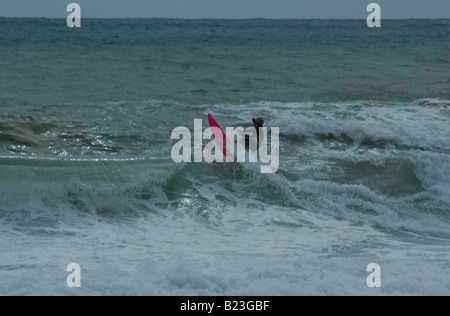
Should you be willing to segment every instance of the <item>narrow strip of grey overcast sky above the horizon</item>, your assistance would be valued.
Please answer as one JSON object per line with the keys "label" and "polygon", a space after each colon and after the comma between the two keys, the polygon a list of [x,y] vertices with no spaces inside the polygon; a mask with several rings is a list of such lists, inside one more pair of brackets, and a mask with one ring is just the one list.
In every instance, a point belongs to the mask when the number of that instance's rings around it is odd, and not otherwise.
{"label": "narrow strip of grey overcast sky above the horizon", "polygon": [[0,0],[0,16],[66,18],[71,2],[82,18],[365,19],[371,2],[382,18],[450,18],[450,0]]}

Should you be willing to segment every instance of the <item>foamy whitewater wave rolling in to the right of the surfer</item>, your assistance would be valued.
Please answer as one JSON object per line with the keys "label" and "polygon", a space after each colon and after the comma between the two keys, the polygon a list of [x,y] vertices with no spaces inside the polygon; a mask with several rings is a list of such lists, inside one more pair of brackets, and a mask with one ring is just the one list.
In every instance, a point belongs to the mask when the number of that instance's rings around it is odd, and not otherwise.
{"label": "foamy whitewater wave rolling in to the right of the surfer", "polygon": [[424,102],[297,107],[292,115],[295,119],[289,120],[283,132],[286,136],[339,139],[367,147],[393,145],[402,149],[450,152],[447,105],[434,102],[439,104],[437,108],[421,106],[431,104]]}

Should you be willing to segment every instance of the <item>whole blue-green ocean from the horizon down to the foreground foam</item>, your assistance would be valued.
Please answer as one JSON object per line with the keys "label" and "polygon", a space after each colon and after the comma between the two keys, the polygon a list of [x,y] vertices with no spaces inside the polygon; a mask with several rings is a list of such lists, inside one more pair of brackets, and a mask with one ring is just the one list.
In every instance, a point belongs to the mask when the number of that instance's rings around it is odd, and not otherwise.
{"label": "whole blue-green ocean from the horizon down to the foreground foam", "polygon": [[0,295],[450,295],[450,20],[0,18]]}

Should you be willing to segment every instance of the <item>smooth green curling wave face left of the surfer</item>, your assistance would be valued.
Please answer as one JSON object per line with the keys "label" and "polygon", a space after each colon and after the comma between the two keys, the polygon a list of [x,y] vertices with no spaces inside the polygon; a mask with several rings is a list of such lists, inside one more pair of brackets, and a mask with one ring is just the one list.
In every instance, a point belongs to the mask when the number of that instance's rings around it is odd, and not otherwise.
{"label": "smooth green curling wave face left of the surfer", "polygon": [[133,217],[179,168],[163,159],[0,158],[0,214],[30,225],[37,217],[60,224],[67,214]]}

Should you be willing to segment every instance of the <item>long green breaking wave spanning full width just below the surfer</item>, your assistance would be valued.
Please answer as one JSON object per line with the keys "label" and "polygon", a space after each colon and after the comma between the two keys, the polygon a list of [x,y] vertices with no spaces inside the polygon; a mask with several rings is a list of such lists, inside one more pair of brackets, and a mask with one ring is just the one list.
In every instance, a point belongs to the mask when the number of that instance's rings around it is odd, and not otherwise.
{"label": "long green breaking wave spanning full width just below the surfer", "polygon": [[446,154],[416,152],[380,166],[344,160],[335,169],[292,165],[262,175],[156,159],[1,158],[0,217],[16,228],[48,230],[86,216],[126,221],[149,214],[220,226],[223,210],[250,205],[443,234],[450,225],[448,164]]}

